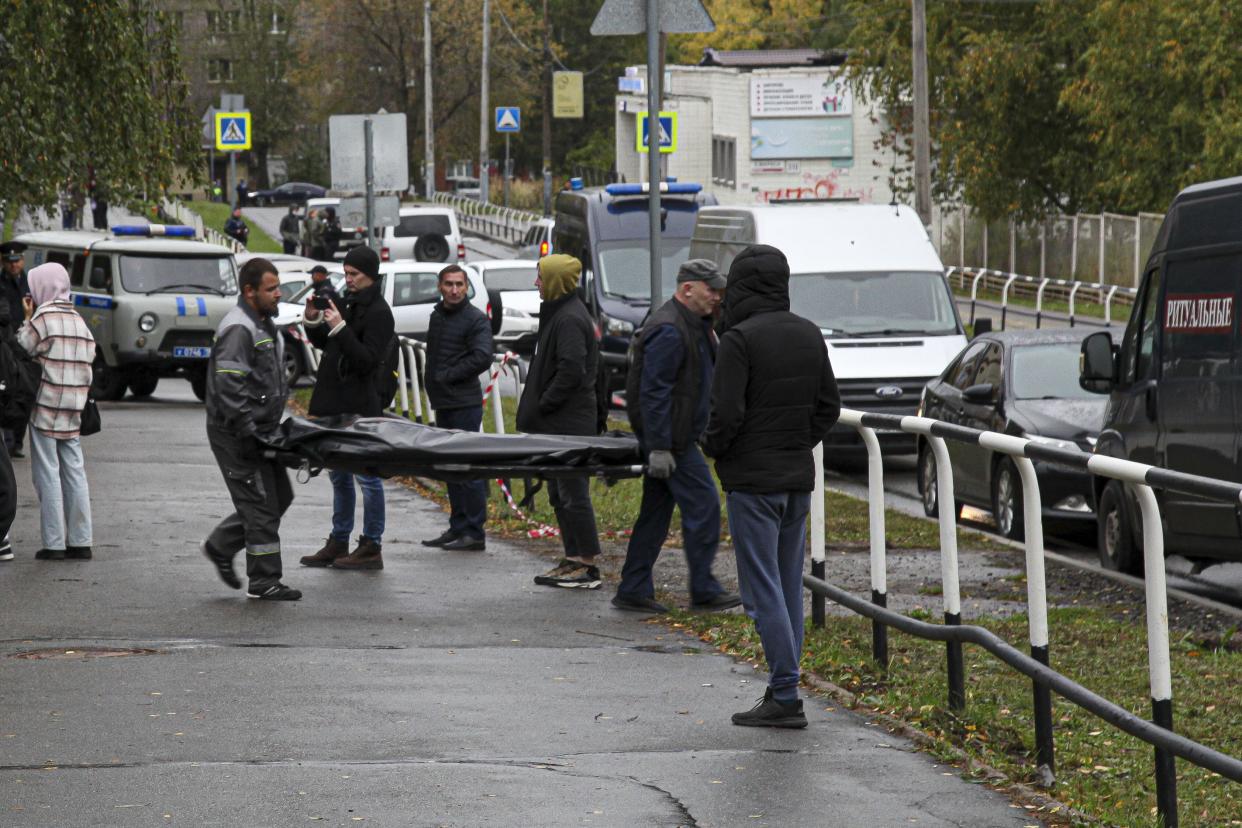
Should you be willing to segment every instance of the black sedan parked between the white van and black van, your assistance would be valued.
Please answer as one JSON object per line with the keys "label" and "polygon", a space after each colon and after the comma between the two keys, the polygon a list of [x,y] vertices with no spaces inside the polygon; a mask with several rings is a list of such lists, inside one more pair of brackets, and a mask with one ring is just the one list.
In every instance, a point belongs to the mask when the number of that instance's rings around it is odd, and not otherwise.
{"label": "black sedan parked between the white van and black van", "polygon": [[[927,384],[919,411],[944,422],[1026,437],[1089,452],[1104,426],[1107,400],[1078,387],[1083,329],[989,333],[975,338]],[[945,441],[953,461],[955,504],[990,509],[996,529],[1021,539],[1022,480],[1006,454]],[[938,513],[932,447],[919,441],[918,487],[923,510]],[[1094,520],[1090,475],[1035,462],[1045,518]]]}

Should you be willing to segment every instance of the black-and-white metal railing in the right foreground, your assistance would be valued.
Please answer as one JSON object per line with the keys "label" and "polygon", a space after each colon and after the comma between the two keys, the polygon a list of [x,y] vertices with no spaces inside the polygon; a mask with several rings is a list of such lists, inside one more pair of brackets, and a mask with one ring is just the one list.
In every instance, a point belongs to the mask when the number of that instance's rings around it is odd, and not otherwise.
{"label": "black-and-white metal railing in the right foreground", "polygon": [[[992,653],[1032,680],[1035,699],[1036,757],[1040,766],[1053,773],[1056,768],[1052,734],[1051,691],[1099,716],[1114,727],[1141,739],[1155,747],[1156,808],[1163,824],[1177,824],[1177,787],[1174,757],[1221,776],[1242,782],[1242,760],[1235,758],[1172,730],[1172,675],[1169,657],[1169,608],[1165,590],[1164,534],[1160,510],[1153,487],[1194,494],[1212,500],[1242,503],[1242,484],[1170,472],[1143,463],[1086,452],[1053,448],[995,432],[964,426],[895,415],[866,413],[842,410],[841,422],[858,431],[867,448],[868,500],[871,509],[871,601],[866,601],[823,580],[823,454],[816,447],[816,493],[811,509],[811,575],[804,577],[812,592],[812,623],[823,626],[825,598],[872,619],[872,653],[882,669],[888,669],[887,628],[893,627],[912,636],[946,642],[949,708],[964,710],[965,668],[961,654],[964,643],[976,644]],[[1010,457],[1022,480],[1022,506],[1026,528],[1026,575],[1030,655],[1020,652],[982,627],[961,623],[961,593],[958,585],[958,526],[953,509],[940,510],[940,576],[944,600],[944,624],[932,624],[887,610],[886,535],[884,535],[884,466],[876,431],[900,431],[927,441],[935,458],[936,503],[951,504],[954,499],[953,464],[946,439],[982,446]],[[1145,566],[1145,600],[1148,629],[1148,674],[1153,721],[1129,713],[1048,667],[1048,608],[1043,571],[1043,528],[1040,485],[1031,461],[1083,469],[1124,483],[1138,500],[1143,520],[1143,556]]]}

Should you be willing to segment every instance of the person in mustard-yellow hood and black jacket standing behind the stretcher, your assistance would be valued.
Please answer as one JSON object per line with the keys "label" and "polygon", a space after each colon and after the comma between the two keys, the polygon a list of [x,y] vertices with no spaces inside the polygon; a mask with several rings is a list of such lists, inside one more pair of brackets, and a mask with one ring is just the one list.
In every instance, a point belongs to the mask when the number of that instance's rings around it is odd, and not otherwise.
{"label": "person in mustard-yellow hood and black jacket standing behind the stretcher", "polygon": [[[599,433],[595,379],[600,344],[595,323],[578,297],[582,263],[553,253],[539,259],[535,287],[539,305],[539,344],[518,401],[518,430],[537,434],[594,436]],[[600,570],[590,480],[585,477],[548,480],[548,499],[556,513],[565,556],[551,570],[535,576],[540,586],[597,590]]]}

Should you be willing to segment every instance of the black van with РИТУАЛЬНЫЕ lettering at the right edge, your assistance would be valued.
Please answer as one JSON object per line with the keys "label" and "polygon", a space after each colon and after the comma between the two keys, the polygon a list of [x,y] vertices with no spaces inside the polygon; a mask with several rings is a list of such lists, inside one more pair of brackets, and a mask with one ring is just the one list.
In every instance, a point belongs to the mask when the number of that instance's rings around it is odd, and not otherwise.
{"label": "black van with \u0420\u0418\u0422\u0423\u0410\u041b\u042c\u041d\u042b\u0415 lettering at the right edge", "polygon": [[[1097,454],[1223,480],[1242,480],[1242,178],[1187,187],[1174,199],[1143,271],[1120,345],[1083,340],[1079,382],[1108,394]],[[1099,556],[1139,571],[1138,503],[1095,478]],[[1156,492],[1165,552],[1242,560],[1238,504]]]}

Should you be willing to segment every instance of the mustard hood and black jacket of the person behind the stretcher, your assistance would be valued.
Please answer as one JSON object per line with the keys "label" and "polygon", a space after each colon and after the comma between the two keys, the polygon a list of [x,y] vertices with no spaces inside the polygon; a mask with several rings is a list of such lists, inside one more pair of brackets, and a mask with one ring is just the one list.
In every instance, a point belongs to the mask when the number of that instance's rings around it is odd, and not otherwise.
{"label": "mustard hood and black jacket of the person behind the stretcher", "polygon": [[533,434],[599,433],[595,379],[600,345],[595,323],[578,297],[582,263],[553,253],[539,259],[544,300],[539,344],[518,401],[518,428]]}

